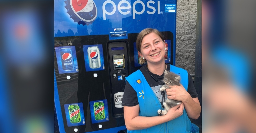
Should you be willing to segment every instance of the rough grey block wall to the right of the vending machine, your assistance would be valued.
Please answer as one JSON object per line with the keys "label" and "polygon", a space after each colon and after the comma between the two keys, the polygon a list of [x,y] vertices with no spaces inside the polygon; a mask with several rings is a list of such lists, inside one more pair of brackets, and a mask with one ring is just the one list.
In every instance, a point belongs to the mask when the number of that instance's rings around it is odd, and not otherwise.
{"label": "rough grey block wall to the right of the vending machine", "polygon": [[177,0],[176,66],[195,74],[197,0]]}

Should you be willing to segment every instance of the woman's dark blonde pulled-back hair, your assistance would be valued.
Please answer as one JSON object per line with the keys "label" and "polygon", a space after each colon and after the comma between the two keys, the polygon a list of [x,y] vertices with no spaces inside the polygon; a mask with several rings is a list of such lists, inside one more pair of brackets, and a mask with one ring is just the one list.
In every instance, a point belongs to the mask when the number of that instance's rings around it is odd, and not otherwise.
{"label": "woman's dark blonde pulled-back hair", "polygon": [[[163,35],[156,29],[152,29],[152,28],[146,28],[144,30],[142,30],[138,36],[137,36],[137,40],[136,40],[136,48],[137,50],[141,53],[141,42],[142,42],[142,39],[147,35],[147,34],[150,34],[154,32],[155,34],[157,34],[161,39],[162,41],[164,41],[163,39]],[[140,58],[139,62],[141,65],[143,65],[144,63],[146,63],[146,59],[143,59],[143,58]]]}

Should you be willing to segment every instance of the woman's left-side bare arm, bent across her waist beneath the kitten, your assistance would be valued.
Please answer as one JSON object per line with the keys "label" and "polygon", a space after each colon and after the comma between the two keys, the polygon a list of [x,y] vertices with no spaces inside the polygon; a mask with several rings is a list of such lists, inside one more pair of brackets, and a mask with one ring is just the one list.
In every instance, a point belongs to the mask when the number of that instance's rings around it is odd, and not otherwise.
{"label": "woman's left-side bare arm, bent across her waist beneath the kitten", "polygon": [[124,106],[125,126],[127,130],[150,128],[181,116],[183,114],[183,110],[184,104],[182,103],[169,109],[166,115],[145,117],[139,116],[139,104],[133,107]]}

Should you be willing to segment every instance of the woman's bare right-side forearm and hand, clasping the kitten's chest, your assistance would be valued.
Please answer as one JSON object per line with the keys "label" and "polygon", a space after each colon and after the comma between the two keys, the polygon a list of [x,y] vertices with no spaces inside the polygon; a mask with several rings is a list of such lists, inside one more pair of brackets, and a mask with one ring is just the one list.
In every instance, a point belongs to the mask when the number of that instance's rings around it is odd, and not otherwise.
{"label": "woman's bare right-side forearm and hand, clasping the kitten's chest", "polygon": [[170,87],[171,88],[166,89],[167,98],[182,101],[188,117],[197,119],[201,112],[198,98],[192,98],[182,85]]}

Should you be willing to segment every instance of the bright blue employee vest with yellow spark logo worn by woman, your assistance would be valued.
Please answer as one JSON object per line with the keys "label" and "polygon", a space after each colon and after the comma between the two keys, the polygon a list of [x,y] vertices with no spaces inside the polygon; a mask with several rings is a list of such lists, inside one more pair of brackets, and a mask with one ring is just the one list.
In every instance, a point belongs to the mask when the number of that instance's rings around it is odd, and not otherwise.
{"label": "bright blue employee vest with yellow spark logo worn by woman", "polygon": [[[170,65],[170,71],[181,75],[180,82],[187,90],[187,71],[173,65]],[[138,70],[132,73],[126,77],[126,81],[128,81],[132,88],[137,92],[140,106],[139,116],[158,116],[157,110],[163,110],[162,105],[141,71]],[[190,122],[184,108],[183,115],[178,118],[147,129],[128,131],[128,133],[199,133],[199,128],[194,123]]]}

